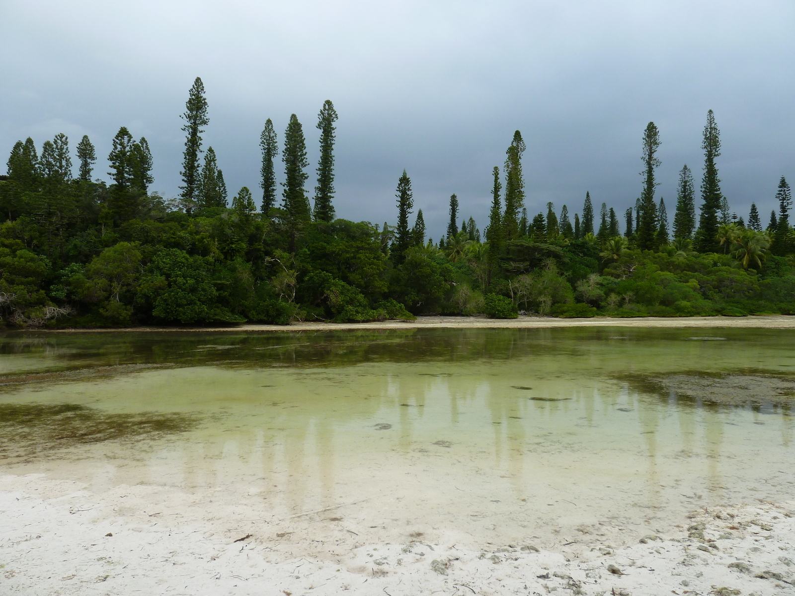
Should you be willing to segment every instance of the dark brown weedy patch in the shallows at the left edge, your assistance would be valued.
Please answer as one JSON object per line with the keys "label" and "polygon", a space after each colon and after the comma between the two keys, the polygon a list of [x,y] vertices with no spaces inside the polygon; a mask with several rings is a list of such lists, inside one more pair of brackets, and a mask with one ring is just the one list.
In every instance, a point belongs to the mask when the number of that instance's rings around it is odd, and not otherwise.
{"label": "dark brown weedy patch in the shallows at the left edge", "polygon": [[79,404],[0,404],[0,461],[105,441],[160,439],[192,431],[186,413],[108,413]]}

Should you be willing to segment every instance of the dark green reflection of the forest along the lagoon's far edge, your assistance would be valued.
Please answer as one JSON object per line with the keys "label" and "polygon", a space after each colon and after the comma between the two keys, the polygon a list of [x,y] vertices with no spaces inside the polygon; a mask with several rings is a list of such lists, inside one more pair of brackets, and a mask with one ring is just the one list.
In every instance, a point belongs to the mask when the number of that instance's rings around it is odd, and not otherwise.
{"label": "dark green reflection of the forest along the lagoon's far edge", "polygon": [[[702,329],[701,334],[712,330]],[[780,330],[719,329],[723,337],[692,337],[688,329],[572,327],[564,329],[362,329],[344,331],[118,331],[0,335],[0,356],[47,358],[48,371],[85,366],[350,366],[366,362],[510,359],[537,353],[581,356],[594,348],[634,352],[678,343],[682,351],[721,346],[780,347]],[[615,341],[615,340],[630,340]],[[728,339],[723,342],[692,340]],[[708,345],[704,345],[708,344]],[[791,365],[781,366],[795,366]],[[25,372],[17,370],[11,372]],[[32,372],[27,370],[27,372]]]}

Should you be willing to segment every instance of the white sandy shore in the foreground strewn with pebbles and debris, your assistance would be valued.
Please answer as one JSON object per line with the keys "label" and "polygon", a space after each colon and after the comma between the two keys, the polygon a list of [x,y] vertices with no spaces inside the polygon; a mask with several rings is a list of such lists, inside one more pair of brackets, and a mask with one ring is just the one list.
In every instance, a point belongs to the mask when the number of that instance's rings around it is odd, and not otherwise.
{"label": "white sandy shore in the foreground strewn with pebbles and debris", "polygon": [[[792,501],[704,507],[624,546],[599,544],[595,530],[576,539],[580,551],[549,551],[464,545],[455,528],[406,532],[391,544],[368,540],[372,531],[353,520],[336,537],[320,529],[355,504],[274,523],[241,519],[234,505],[213,507],[195,494],[185,506],[184,494],[161,486],[96,494],[42,474],[0,482],[2,594],[795,593]],[[316,540],[291,540],[310,523]]]}

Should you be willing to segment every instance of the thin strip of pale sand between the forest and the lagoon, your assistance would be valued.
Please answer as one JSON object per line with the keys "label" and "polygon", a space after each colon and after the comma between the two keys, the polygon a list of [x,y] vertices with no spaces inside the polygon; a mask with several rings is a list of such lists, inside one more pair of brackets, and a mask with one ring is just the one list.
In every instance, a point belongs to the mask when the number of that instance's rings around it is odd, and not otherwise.
{"label": "thin strip of pale sand between the forest and the lagoon", "polygon": [[518,319],[489,319],[477,316],[421,316],[415,321],[380,321],[373,323],[292,323],[267,325],[250,323],[236,327],[127,327],[118,329],[25,330],[50,333],[103,333],[114,331],[338,331],[346,329],[541,329],[556,327],[739,327],[756,329],[795,329],[795,316],[697,316],[681,318],[642,317],[617,319],[556,319],[555,317],[520,316]]}

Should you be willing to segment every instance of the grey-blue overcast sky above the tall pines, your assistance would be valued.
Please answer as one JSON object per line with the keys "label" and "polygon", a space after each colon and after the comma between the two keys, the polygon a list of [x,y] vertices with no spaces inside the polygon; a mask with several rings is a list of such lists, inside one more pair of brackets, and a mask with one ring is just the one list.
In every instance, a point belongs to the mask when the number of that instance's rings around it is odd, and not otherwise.
{"label": "grey-blue overcast sky above the tall pines", "polygon": [[[231,194],[259,193],[259,134],[292,113],[307,137],[312,194],[317,112],[337,122],[337,215],[394,223],[403,168],[434,238],[448,197],[482,228],[491,168],[514,130],[530,216],[585,192],[622,213],[641,190],[641,136],[660,129],[669,214],[677,172],[700,180],[701,133],[715,110],[723,193],[747,217],[795,179],[795,2],[0,2],[0,150],[88,134],[107,178],[119,126],[153,150],[152,189],[178,193],[179,114],[200,76]],[[7,154],[7,153],[5,153]],[[2,158],[5,161],[5,157]],[[277,163],[281,173],[281,161]],[[795,181],[795,180],[793,180]],[[261,198],[261,194],[259,195]],[[766,220],[767,216],[764,216]]]}

